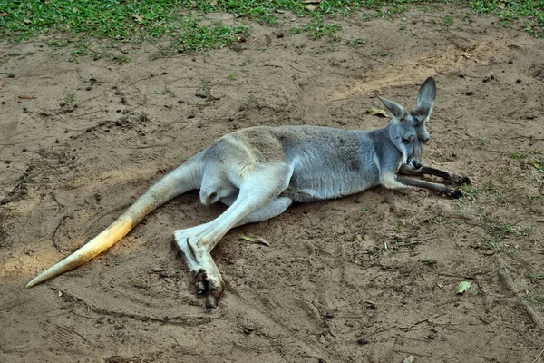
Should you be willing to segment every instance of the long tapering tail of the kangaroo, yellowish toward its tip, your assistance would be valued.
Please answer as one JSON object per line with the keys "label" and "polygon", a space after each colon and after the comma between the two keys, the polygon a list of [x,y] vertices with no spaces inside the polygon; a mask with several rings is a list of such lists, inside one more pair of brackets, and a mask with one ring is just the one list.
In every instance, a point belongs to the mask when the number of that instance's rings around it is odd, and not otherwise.
{"label": "long tapering tail of the kangaroo, yellowish toward its tip", "polygon": [[79,250],[76,250],[60,262],[44,270],[31,280],[26,288],[49,280],[66,271],[73,270],[93,257],[108,250],[112,245],[127,235],[141,220],[160,205],[170,201],[178,195],[198,189],[202,180],[203,152],[195,155],[189,161],[183,163],[174,171],[165,175],[156,182],[137,201],[132,204],[121,217],[114,221],[110,227],[102,231],[98,236],[87,242]]}

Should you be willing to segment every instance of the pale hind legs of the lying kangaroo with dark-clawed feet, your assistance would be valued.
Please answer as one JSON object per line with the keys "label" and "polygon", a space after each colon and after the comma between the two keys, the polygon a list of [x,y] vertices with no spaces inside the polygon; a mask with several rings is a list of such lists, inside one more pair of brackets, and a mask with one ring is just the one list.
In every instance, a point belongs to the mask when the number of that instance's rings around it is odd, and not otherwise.
{"label": "pale hind legs of the lying kangaroo with dark-clawed feet", "polygon": [[287,189],[292,172],[283,162],[258,166],[244,176],[238,187],[238,197],[227,211],[209,223],[175,231],[176,242],[186,255],[189,268],[197,272],[197,290],[209,292],[208,310],[217,307],[224,290],[211,250],[230,229],[252,221],[264,221],[285,211],[291,200],[278,196]]}

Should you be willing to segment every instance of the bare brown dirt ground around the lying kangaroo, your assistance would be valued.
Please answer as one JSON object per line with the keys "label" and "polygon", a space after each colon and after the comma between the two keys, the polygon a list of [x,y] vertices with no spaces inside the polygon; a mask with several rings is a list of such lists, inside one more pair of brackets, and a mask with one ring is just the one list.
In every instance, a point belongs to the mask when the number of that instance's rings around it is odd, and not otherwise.
{"label": "bare brown dirt ground around the lying kangaroo", "polygon": [[[43,39],[0,43],[0,361],[536,362],[544,40],[463,14],[355,14],[330,42],[291,36],[304,19],[286,13],[288,25],[252,24],[221,50],[109,49],[124,64],[68,62]],[[172,232],[225,207],[189,192],[100,257],[24,289],[219,136],[381,127],[367,113],[381,107],[374,92],[414,107],[428,76],[426,162],[471,178],[461,201],[380,187],[230,231],[213,253],[228,289],[207,313]]]}

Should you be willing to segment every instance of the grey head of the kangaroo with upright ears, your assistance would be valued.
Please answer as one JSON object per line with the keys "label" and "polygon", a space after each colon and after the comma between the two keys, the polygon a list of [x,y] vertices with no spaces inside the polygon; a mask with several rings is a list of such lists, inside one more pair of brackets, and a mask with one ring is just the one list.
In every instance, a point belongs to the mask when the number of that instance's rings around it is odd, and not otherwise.
{"label": "grey head of the kangaroo with upright ears", "polygon": [[417,93],[417,108],[406,110],[398,103],[379,97],[385,108],[393,115],[389,127],[389,137],[399,152],[403,154],[403,163],[409,168],[420,169],[423,166],[423,144],[429,140],[425,123],[429,120],[432,105],[436,98],[436,85],[432,77],[427,78]]}

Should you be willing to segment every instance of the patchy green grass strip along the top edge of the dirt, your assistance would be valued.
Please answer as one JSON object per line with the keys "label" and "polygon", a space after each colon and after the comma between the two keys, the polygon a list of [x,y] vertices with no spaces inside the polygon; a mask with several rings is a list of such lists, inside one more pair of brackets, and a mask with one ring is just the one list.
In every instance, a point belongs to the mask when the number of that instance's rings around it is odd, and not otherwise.
{"label": "patchy green grass strip along the top edge of the dirt", "polygon": [[[311,38],[330,36],[339,41],[338,15],[350,15],[364,9],[366,18],[391,17],[413,4],[448,3],[447,0],[321,0],[319,4],[305,4],[300,0],[49,0],[23,1],[0,0],[0,37],[21,41],[40,34],[65,34],[56,40],[54,47],[75,44],[73,57],[101,55],[86,44],[92,39],[109,39],[118,42],[153,41],[168,36],[172,50],[194,51],[228,46],[240,36],[249,34],[246,20],[269,25],[283,21],[282,13],[289,10],[306,18],[305,25],[292,28],[291,33],[306,33]],[[498,15],[505,25],[521,19],[530,34],[544,34],[543,0],[468,1],[458,4],[470,6],[482,15]],[[371,11],[368,11],[371,10]],[[236,15],[234,25],[215,23],[203,25],[209,13]],[[451,17],[444,18],[444,25],[451,25]],[[85,41],[82,42],[81,40]],[[361,43],[350,43],[352,46]]]}

